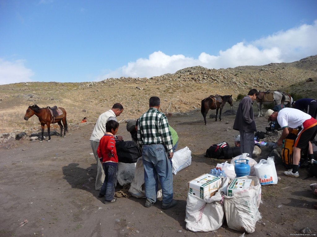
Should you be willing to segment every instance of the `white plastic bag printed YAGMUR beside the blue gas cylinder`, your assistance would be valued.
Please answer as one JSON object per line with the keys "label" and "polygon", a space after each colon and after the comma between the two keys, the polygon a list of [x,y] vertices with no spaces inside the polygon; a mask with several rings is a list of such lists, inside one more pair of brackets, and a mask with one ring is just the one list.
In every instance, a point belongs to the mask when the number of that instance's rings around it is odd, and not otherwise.
{"label": "white plastic bag printed YAGMUR beside the blue gas cylinder", "polygon": [[274,156],[268,160],[262,159],[254,166],[256,177],[259,178],[261,185],[277,184],[277,173],[274,164]]}

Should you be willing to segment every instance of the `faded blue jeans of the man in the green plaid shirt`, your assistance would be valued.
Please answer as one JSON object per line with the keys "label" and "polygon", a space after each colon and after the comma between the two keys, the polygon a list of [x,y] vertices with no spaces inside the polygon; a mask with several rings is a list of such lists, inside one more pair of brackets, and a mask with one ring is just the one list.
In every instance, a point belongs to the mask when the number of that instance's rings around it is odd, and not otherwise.
{"label": "faded blue jeans of the man in the green plaid shirt", "polygon": [[164,146],[162,144],[144,145],[142,161],[146,198],[152,203],[156,202],[160,182],[163,204],[170,203],[173,199],[173,174]]}

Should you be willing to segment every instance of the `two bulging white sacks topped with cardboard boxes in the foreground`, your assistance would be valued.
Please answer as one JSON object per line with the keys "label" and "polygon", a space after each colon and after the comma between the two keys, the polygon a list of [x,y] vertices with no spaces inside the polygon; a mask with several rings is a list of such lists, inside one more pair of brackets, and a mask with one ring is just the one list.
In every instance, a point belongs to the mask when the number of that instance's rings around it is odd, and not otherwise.
{"label": "two bulging white sacks topped with cardboard boxes in the foreground", "polygon": [[261,219],[258,209],[261,184],[257,177],[244,176],[230,181],[228,177],[220,179],[204,174],[190,181],[188,187],[186,229],[215,231],[226,218],[230,229],[255,231],[256,222]]}

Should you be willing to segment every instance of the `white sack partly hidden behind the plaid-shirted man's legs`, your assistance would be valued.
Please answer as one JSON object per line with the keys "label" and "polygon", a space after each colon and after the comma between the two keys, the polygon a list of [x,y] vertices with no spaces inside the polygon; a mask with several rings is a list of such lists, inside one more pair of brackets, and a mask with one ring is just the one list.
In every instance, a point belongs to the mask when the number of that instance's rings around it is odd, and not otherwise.
{"label": "white sack partly hidden behind the plaid-shirted man's legs", "polygon": [[[159,184],[160,187],[160,184]],[[131,182],[129,193],[133,197],[145,198],[145,189],[144,189],[144,167],[142,157],[138,159],[135,166],[134,179]],[[157,198],[162,197],[162,189],[159,189],[157,193]]]}

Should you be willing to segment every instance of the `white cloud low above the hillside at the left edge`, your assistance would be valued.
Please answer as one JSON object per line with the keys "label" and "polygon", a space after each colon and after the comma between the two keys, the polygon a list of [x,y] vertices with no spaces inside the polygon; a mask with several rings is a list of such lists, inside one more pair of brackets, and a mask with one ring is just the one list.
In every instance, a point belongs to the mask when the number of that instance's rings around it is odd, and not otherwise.
{"label": "white cloud low above the hillside at the left edge", "polygon": [[0,85],[30,82],[33,75],[33,71],[24,66],[23,60],[9,62],[0,58]]}

